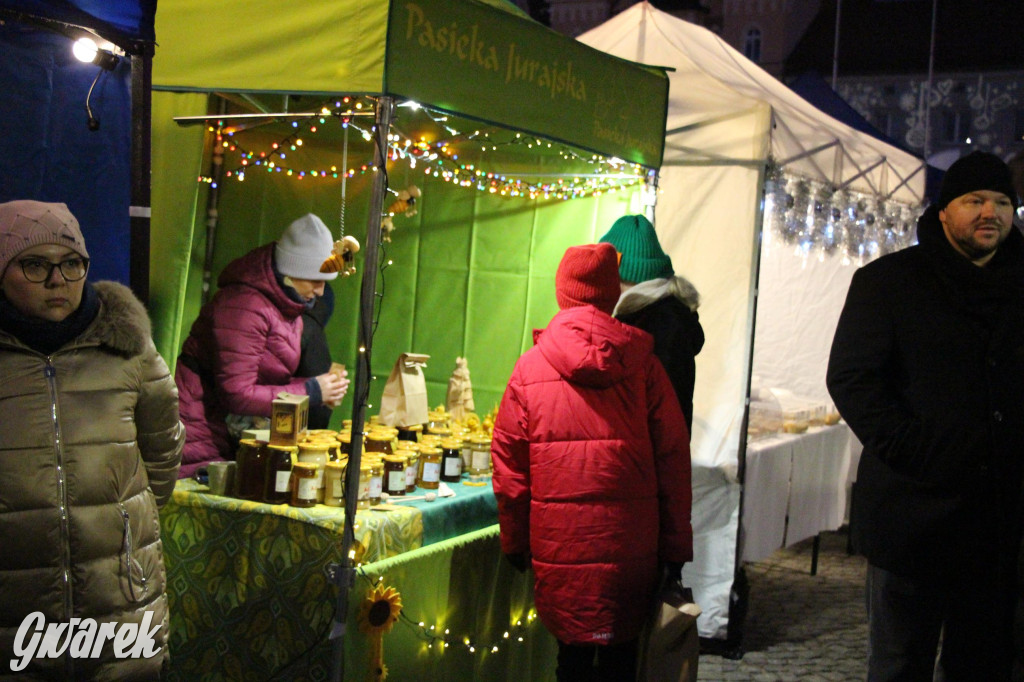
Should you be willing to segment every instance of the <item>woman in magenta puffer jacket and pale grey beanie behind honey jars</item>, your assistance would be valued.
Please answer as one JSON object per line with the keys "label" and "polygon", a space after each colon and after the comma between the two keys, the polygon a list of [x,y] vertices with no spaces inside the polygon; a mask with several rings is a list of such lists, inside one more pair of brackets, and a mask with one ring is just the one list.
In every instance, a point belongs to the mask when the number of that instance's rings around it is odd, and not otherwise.
{"label": "woman in magenta puffer jacket and pale grey beanie behind honey jars", "polygon": [[297,377],[302,312],[337,273],[322,273],[331,230],[313,214],[288,226],[281,240],[258,247],[224,268],[218,291],[203,306],[178,356],[185,449],[180,477],[216,460],[233,459],[227,421],[269,417],[281,392],[309,395],[310,407],[336,406],[348,379]]}

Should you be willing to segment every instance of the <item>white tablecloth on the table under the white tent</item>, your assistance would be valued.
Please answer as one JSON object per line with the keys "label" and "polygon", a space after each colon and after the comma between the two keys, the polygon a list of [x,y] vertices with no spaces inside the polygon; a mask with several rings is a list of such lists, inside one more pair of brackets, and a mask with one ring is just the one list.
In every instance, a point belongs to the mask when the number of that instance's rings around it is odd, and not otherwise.
{"label": "white tablecloth on the table under the white tent", "polygon": [[843,524],[852,439],[841,423],[746,446],[742,561],[759,561]]}

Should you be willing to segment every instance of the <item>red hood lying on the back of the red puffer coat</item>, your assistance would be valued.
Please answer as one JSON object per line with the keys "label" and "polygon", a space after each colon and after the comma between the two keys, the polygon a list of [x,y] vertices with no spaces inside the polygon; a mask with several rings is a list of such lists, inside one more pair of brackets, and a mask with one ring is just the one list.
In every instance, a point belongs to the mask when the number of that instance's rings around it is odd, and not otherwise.
{"label": "red hood lying on the back of the red puffer coat", "polygon": [[535,331],[538,349],[570,383],[611,386],[639,372],[654,347],[649,334],[624,325],[592,305],[566,308],[547,329]]}

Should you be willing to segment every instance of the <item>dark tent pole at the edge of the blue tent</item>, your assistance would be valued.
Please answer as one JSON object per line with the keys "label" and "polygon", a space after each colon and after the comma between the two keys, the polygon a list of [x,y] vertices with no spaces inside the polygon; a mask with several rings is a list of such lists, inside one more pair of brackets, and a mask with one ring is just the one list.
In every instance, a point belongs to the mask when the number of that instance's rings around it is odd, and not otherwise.
{"label": "dark tent pole at the edge of the blue tent", "polygon": [[150,175],[153,117],[153,52],[143,46],[131,55],[131,205],[128,207],[129,285],[143,304],[150,301]]}

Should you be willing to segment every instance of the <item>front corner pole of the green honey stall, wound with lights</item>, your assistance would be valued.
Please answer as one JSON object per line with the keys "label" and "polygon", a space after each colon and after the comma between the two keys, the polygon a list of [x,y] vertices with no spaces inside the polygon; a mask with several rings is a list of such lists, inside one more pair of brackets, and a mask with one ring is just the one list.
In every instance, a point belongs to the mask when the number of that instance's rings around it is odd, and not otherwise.
{"label": "front corner pole of the green honey stall, wound with lights", "polygon": [[348,593],[355,587],[355,508],[359,496],[359,464],[362,459],[362,423],[370,394],[370,357],[374,341],[374,301],[377,296],[377,259],[381,241],[381,216],[387,193],[387,134],[391,128],[394,98],[381,96],[377,100],[374,130],[374,184],[370,196],[370,217],[367,219],[367,243],[362,261],[362,288],[359,292],[359,351],[355,363],[352,393],[352,452],[345,468],[345,528],[341,538],[341,563],[328,566],[328,574],[338,586],[338,606],[335,609],[331,639],[334,655],[331,680],[338,682],[345,674],[345,625],[348,622]]}

